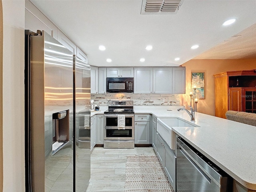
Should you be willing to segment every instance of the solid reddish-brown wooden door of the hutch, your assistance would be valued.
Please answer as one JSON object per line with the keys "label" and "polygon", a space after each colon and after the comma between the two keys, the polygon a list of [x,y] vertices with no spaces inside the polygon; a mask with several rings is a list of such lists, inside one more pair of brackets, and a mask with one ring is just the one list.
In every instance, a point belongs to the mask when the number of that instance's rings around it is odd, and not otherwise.
{"label": "solid reddish-brown wooden door of the hutch", "polygon": [[229,109],[233,111],[242,111],[242,88],[229,88]]}

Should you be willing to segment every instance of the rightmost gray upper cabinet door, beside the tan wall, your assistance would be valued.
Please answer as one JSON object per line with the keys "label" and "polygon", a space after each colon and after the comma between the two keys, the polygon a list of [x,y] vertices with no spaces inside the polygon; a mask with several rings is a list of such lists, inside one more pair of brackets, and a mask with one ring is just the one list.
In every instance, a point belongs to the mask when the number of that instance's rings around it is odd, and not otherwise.
{"label": "rightmost gray upper cabinet door, beside the tan wall", "polygon": [[185,67],[172,68],[172,93],[173,94],[186,93],[186,68]]}

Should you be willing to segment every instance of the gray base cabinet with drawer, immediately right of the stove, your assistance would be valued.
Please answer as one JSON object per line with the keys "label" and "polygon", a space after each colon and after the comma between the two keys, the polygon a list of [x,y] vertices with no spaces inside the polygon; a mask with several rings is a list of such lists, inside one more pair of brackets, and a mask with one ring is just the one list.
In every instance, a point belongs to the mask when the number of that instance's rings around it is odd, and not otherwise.
{"label": "gray base cabinet with drawer, immediately right of the stove", "polygon": [[135,114],[134,143],[150,144],[150,115]]}

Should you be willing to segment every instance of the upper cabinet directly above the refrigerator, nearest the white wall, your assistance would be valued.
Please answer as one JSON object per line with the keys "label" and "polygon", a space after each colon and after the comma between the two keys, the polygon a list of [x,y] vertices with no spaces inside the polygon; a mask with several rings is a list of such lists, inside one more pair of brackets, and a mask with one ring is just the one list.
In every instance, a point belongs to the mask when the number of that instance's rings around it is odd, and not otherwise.
{"label": "upper cabinet directly above the refrigerator, nearest the white wall", "polygon": [[57,26],[42,14],[30,1],[25,1],[25,29],[29,29],[32,32],[44,30],[57,40]]}

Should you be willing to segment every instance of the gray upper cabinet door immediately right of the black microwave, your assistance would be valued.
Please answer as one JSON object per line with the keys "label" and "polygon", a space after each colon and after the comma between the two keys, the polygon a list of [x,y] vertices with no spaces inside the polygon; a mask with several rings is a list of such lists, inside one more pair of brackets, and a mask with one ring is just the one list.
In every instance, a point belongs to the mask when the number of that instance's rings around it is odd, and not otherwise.
{"label": "gray upper cabinet door immediately right of the black microwave", "polygon": [[134,68],[134,93],[153,93],[153,68]]}

